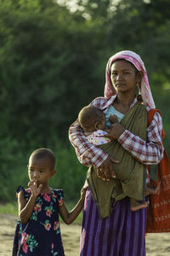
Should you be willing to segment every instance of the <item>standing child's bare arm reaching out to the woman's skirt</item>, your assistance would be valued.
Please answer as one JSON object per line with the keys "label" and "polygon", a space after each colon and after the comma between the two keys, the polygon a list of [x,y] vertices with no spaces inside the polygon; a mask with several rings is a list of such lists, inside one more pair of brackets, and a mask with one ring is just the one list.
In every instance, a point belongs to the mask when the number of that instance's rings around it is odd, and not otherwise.
{"label": "standing child's bare arm reaching out to the woman's skirt", "polygon": [[71,212],[68,212],[67,208],[65,207],[65,203],[63,202],[62,206],[59,206],[59,215],[64,220],[65,224],[71,224],[82,211],[84,206],[84,200],[86,195],[86,189],[82,188],[81,190],[81,198],[77,202],[76,207],[74,207]]}

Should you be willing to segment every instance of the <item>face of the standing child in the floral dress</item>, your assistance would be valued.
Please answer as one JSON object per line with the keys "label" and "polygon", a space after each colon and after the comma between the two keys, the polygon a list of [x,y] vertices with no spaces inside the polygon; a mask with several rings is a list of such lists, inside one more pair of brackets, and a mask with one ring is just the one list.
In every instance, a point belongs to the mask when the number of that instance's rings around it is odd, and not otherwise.
{"label": "face of the standing child in the floral dress", "polygon": [[48,158],[38,159],[31,157],[28,165],[28,175],[31,181],[35,181],[37,186],[48,185],[48,179],[54,176],[55,170],[51,170],[51,163]]}

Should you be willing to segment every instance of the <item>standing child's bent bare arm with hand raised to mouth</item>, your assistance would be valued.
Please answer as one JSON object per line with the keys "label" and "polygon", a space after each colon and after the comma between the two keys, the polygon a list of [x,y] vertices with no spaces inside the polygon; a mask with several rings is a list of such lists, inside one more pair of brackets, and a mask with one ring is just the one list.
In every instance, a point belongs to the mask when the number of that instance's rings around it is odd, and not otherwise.
{"label": "standing child's bent bare arm with hand raised to mouth", "polygon": [[34,210],[37,196],[40,194],[42,189],[42,185],[37,188],[37,184],[32,182],[29,183],[29,187],[31,188],[31,197],[29,198],[29,201],[26,202],[22,190],[18,195],[19,218],[22,224],[26,224],[31,218],[31,213]]}

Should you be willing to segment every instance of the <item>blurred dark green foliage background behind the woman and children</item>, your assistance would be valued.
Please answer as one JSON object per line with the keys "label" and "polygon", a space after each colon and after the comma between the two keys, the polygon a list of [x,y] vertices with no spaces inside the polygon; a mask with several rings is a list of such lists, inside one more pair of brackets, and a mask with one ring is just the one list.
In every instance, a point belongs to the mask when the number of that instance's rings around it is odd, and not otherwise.
{"label": "blurred dark green foliage background behind the woman and children", "polygon": [[87,167],[68,140],[79,110],[103,96],[105,65],[122,49],[141,55],[170,153],[169,0],[0,0],[0,202],[27,186],[36,148],[56,154],[50,185],[79,197]]}

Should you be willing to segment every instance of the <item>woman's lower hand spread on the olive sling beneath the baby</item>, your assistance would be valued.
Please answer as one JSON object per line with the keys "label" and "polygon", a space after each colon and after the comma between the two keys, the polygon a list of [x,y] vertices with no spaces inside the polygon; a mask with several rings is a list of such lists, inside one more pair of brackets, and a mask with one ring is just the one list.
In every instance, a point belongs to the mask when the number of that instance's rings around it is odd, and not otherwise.
{"label": "woman's lower hand spread on the olive sling beneath the baby", "polygon": [[106,181],[109,181],[111,178],[116,177],[111,162],[115,164],[119,163],[118,160],[115,160],[111,156],[108,156],[103,164],[101,164],[101,166],[99,166],[99,168],[97,169],[98,177],[101,177],[103,180]]}

